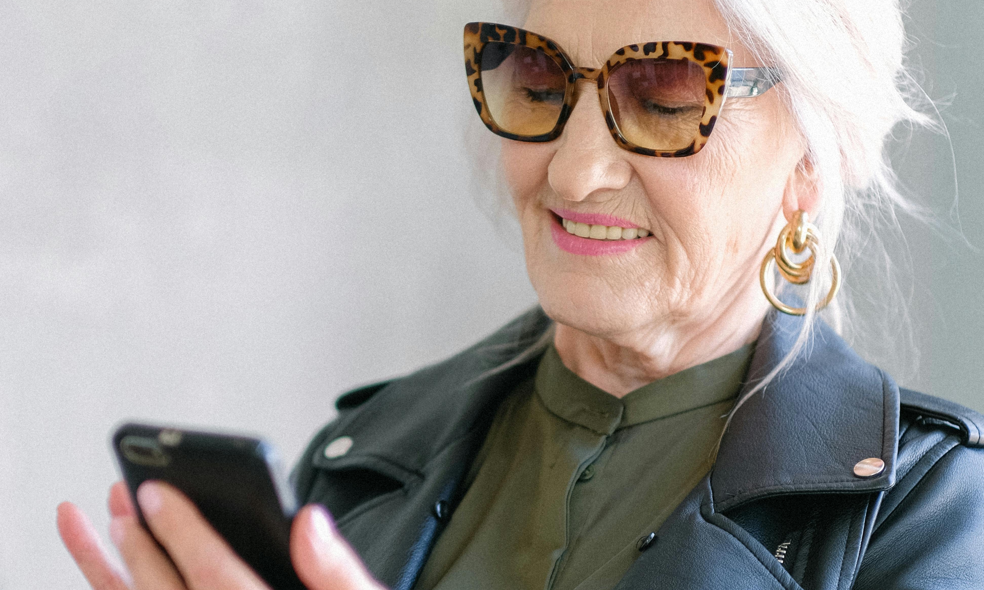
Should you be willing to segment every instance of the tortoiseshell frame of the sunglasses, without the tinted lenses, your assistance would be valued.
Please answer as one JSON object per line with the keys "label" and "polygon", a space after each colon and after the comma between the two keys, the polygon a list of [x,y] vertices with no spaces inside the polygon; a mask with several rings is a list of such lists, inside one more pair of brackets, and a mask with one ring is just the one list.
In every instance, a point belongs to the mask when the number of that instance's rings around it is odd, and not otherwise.
{"label": "tortoiseshell frame of the sunglasses, without the tinted lenses", "polygon": [[[492,119],[482,91],[480,67],[482,50],[489,41],[521,45],[542,51],[560,66],[567,76],[564,102],[557,124],[548,133],[535,136],[517,135],[505,131]],[[693,155],[707,145],[707,138],[710,137],[725,98],[758,96],[779,81],[779,72],[775,68],[730,68],[728,65],[730,58],[731,51],[718,45],[692,41],[650,41],[633,43],[616,50],[600,69],[582,68],[575,66],[555,41],[535,32],[495,23],[468,23],[464,26],[464,71],[468,77],[468,89],[471,91],[475,110],[478,111],[478,116],[489,131],[500,137],[520,142],[538,143],[557,139],[564,131],[564,124],[571,116],[571,111],[574,110],[577,82],[584,79],[597,83],[598,99],[605,113],[605,123],[620,148],[659,157]],[[608,75],[622,64],[637,59],[684,59],[703,68],[707,81],[704,114],[690,146],[675,150],[644,148],[630,142],[622,135],[608,100]]]}

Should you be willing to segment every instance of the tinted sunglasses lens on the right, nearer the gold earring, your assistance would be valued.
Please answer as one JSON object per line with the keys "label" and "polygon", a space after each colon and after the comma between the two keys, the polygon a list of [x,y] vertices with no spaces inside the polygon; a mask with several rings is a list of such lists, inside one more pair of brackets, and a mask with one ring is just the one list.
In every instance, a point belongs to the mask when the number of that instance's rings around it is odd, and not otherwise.
{"label": "tinted sunglasses lens on the right, nearer the gold earring", "polygon": [[675,151],[694,143],[707,77],[685,59],[637,59],[608,74],[608,102],[622,136],[640,148]]}

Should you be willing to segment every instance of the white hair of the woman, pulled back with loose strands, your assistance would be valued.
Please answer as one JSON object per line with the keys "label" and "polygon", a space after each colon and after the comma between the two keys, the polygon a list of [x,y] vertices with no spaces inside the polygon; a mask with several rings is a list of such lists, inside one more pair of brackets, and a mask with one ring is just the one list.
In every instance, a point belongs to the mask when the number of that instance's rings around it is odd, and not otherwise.
{"label": "white hair of the woman, pulled back with loose strands", "polygon": [[[782,84],[775,90],[806,141],[821,191],[815,224],[826,252],[818,259],[828,260],[834,252],[843,267],[840,294],[817,314],[813,310],[830,285],[830,265],[815,266],[801,295],[810,311],[795,346],[748,395],[764,389],[804,352],[818,316],[849,340],[862,340],[852,343],[869,348],[864,351],[869,360],[887,360],[878,357],[888,353],[895,356],[895,365],[913,365],[914,358],[901,363],[897,359],[899,349],[916,354],[907,313],[909,295],[899,286],[911,266],[898,217],[930,221],[931,215],[902,194],[888,147],[900,124],[910,131],[945,128],[938,113],[935,117],[926,114],[934,112],[935,105],[907,64],[904,7],[899,0],[714,2],[733,36],[752,51],[758,63],[782,71]],[[508,18],[522,24],[528,3],[504,0]],[[477,123],[473,113],[471,118]],[[487,134],[478,125],[470,129]],[[478,161],[488,162],[494,157],[489,150],[498,149],[499,143],[469,141],[468,145],[472,155],[481,158]],[[478,172],[485,173],[485,182],[495,183],[501,198],[506,195],[501,170],[486,166]],[[860,282],[867,289],[852,286],[852,273],[863,278]],[[877,305],[864,305],[859,295],[871,292],[872,287],[878,289]],[[857,314],[856,307],[873,307],[875,313]],[[870,320],[879,312],[881,322]],[[869,343],[873,345],[865,346]]]}

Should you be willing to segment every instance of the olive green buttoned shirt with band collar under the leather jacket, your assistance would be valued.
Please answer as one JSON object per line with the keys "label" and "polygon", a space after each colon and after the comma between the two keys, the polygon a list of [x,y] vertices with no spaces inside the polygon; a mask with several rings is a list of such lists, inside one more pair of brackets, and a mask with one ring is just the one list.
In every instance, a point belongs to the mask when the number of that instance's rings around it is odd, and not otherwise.
{"label": "olive green buttoned shirt with band collar under the leather jacket", "polygon": [[619,399],[551,346],[499,407],[415,589],[614,587],[710,469],[752,350]]}

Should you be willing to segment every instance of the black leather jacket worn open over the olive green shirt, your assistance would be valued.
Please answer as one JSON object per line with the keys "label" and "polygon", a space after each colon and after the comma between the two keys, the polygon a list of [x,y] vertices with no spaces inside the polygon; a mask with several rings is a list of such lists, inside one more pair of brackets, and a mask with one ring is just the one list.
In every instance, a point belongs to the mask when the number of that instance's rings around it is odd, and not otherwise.
{"label": "black leather jacket worn open over the olive green shirt", "polygon": [[[769,316],[750,378],[784,356],[797,322]],[[548,326],[534,309],[443,363],[338,399],[297,489],[328,506],[383,583],[412,588]],[[619,590],[984,589],[984,417],[899,389],[826,325],[808,350],[734,413],[710,473]],[[866,458],[884,470],[858,477]]]}

